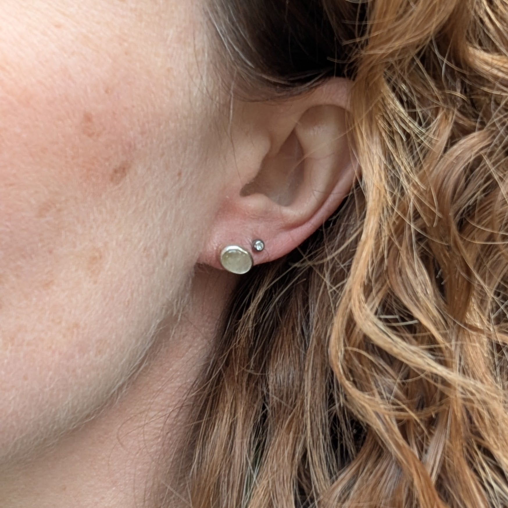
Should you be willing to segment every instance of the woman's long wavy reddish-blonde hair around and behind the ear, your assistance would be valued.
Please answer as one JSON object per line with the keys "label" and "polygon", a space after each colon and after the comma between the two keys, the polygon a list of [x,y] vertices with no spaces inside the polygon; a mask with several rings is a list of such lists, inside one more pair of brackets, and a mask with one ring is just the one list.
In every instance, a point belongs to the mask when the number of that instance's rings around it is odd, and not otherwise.
{"label": "woman's long wavy reddish-blonde hair around and behind the ear", "polygon": [[508,506],[508,3],[217,0],[236,90],[354,81],[362,181],[237,289],[195,508]]}

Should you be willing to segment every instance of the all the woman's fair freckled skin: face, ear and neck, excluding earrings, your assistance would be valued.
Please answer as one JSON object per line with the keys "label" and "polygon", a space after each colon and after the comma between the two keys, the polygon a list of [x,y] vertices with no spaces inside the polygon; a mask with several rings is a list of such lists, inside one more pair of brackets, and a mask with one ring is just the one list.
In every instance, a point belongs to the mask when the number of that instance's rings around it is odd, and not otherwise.
{"label": "all the woman's fair freckled skin: face, ear and neck, excluding earrings", "polygon": [[218,251],[284,256],[352,185],[348,83],[230,117],[203,7],[2,0],[3,507],[140,506],[237,281]]}

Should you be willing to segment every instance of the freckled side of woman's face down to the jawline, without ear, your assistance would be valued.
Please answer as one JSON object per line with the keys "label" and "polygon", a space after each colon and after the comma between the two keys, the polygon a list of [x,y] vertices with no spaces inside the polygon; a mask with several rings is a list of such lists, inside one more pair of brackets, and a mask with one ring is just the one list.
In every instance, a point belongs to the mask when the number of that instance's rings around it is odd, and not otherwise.
{"label": "freckled side of woman's face down to the jawline, without ear", "polygon": [[182,301],[221,171],[201,7],[2,3],[0,463],[102,404]]}

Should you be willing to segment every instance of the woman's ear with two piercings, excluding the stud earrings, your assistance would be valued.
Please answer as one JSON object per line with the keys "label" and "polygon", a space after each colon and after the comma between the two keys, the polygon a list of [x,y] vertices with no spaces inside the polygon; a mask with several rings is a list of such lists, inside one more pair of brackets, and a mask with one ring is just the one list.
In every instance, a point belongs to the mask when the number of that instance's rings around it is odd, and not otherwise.
{"label": "woman's ear with two piercings, excluding the stud earrings", "polygon": [[[199,258],[221,268],[238,245],[255,264],[300,245],[338,208],[357,173],[346,114],[350,82],[332,79],[302,97],[243,104],[231,122],[234,164]],[[265,248],[256,252],[252,242]]]}

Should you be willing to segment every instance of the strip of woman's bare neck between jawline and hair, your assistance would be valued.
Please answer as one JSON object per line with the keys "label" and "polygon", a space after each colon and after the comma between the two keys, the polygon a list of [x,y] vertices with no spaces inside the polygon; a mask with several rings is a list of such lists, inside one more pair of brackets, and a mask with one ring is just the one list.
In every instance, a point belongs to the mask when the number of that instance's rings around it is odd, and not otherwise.
{"label": "strip of woman's bare neck between jawline and hair", "polygon": [[150,506],[149,490],[162,472],[160,443],[171,454],[185,437],[189,389],[210,354],[233,284],[223,274],[196,275],[182,319],[158,340],[157,352],[135,379],[51,449],[3,474],[0,505]]}

